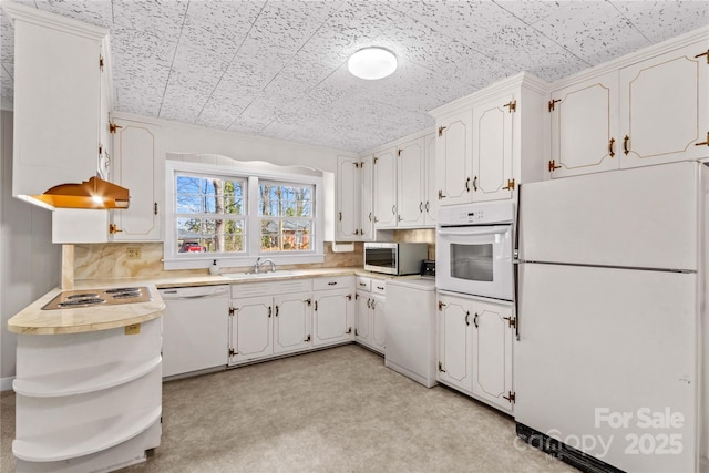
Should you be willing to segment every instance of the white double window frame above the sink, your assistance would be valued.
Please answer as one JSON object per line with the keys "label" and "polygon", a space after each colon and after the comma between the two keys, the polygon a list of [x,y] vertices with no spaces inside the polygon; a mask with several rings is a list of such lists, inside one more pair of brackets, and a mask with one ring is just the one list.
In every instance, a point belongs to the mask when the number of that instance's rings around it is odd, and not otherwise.
{"label": "white double window frame above the sink", "polygon": [[[245,246],[240,254],[178,253],[176,175],[198,174],[204,177],[244,178],[246,181]],[[314,186],[312,234],[309,251],[260,250],[260,219],[258,215],[259,182],[277,182],[281,185]],[[163,247],[164,269],[207,268],[213,260],[222,267],[251,266],[259,257],[273,259],[277,265],[314,264],[325,260],[325,199],[322,173],[305,167],[276,166],[269,163],[234,162],[234,165],[208,164],[166,160],[165,163],[165,240]]]}

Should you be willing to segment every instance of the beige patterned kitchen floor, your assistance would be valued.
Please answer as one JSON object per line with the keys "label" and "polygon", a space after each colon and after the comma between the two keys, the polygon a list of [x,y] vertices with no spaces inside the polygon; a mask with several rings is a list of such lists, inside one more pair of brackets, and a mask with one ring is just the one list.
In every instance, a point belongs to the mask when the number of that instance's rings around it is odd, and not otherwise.
{"label": "beige patterned kitchen floor", "polygon": [[[1,399],[12,472],[14,394]],[[511,418],[354,345],[163,384],[163,438],[129,472],[575,472]]]}

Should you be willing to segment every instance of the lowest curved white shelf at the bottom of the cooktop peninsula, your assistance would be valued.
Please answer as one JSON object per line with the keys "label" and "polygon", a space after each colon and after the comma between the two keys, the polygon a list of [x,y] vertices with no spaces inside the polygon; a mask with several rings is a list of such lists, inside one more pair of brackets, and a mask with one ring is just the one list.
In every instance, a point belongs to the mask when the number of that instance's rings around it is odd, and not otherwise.
{"label": "lowest curved white shelf at the bottom of the cooktop peninsula", "polygon": [[30,440],[12,442],[12,453],[29,462],[56,462],[100,452],[123,443],[160,422],[162,407],[72,424]]}

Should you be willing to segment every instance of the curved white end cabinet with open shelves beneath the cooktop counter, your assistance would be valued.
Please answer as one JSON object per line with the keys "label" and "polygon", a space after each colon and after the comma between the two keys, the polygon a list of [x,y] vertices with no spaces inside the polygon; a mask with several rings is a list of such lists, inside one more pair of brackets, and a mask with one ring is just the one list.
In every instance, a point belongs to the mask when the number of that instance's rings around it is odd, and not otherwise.
{"label": "curved white end cabinet with open shelves beneath the cooktop counter", "polygon": [[114,471],[162,433],[162,318],[83,333],[18,336],[17,472]]}

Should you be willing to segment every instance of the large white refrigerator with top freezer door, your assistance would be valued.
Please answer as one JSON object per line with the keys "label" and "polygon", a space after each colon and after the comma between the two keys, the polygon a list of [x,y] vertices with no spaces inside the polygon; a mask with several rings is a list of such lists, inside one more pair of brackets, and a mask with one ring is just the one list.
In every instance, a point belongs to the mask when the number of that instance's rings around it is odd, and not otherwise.
{"label": "large white refrigerator with top freezer door", "polygon": [[522,186],[521,438],[584,471],[705,471],[706,175],[682,162]]}

